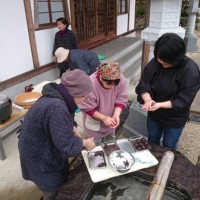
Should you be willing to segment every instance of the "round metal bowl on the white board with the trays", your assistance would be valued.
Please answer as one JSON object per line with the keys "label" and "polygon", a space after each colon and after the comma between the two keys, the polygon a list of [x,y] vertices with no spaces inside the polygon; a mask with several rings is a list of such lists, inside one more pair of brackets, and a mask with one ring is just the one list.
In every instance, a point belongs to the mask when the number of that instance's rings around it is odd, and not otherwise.
{"label": "round metal bowl on the white board with the trays", "polygon": [[122,150],[113,151],[109,155],[108,161],[120,173],[129,171],[135,162],[134,157],[130,153]]}

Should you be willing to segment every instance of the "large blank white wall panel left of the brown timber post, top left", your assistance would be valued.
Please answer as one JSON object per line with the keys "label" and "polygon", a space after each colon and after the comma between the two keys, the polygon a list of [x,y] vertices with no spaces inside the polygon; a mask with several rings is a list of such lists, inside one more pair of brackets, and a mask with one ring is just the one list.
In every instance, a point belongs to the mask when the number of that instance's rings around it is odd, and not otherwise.
{"label": "large blank white wall panel left of the brown timber post, top left", "polygon": [[0,1],[0,82],[33,69],[23,0]]}

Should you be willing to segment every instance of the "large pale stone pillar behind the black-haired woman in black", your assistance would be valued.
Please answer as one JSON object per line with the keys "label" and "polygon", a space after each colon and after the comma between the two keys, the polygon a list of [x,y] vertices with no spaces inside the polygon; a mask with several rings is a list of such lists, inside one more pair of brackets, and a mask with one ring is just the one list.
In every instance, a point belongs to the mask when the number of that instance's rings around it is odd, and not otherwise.
{"label": "large pale stone pillar behind the black-haired woman in black", "polygon": [[185,29],[179,26],[182,0],[151,0],[149,26],[141,32],[141,38],[150,43],[149,60],[153,57],[155,41],[164,33],[176,33],[182,38]]}

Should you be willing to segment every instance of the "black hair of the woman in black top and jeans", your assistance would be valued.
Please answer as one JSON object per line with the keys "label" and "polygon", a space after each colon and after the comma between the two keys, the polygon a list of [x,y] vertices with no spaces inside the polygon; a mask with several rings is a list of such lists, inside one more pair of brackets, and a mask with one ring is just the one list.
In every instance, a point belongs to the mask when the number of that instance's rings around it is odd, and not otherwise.
{"label": "black hair of the woman in black top and jeans", "polygon": [[155,43],[154,56],[157,60],[178,64],[186,53],[184,40],[175,33],[165,33]]}

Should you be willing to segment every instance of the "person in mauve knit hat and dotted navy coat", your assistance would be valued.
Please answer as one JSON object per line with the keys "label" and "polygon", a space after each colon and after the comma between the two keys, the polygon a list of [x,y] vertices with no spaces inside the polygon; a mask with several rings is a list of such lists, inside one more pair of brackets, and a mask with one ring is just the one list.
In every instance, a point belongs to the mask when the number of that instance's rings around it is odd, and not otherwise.
{"label": "person in mauve knit hat and dotted navy coat", "polygon": [[38,186],[44,200],[55,199],[67,180],[68,158],[79,155],[84,147],[95,147],[93,138],[80,137],[74,121],[77,104],[91,91],[85,72],[66,72],[60,84],[43,87],[42,97],[24,117],[18,143],[22,176]]}

